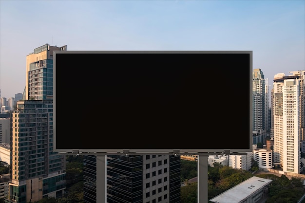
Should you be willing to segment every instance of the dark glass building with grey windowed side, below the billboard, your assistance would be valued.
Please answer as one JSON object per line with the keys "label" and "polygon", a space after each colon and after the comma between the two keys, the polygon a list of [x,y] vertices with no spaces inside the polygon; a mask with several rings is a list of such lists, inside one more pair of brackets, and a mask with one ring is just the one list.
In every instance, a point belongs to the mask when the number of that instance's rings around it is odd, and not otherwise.
{"label": "dark glass building with grey windowed side, below the billboard", "polygon": [[[107,203],[180,203],[180,156],[107,155]],[[96,203],[96,156],[84,155],[84,203]]]}

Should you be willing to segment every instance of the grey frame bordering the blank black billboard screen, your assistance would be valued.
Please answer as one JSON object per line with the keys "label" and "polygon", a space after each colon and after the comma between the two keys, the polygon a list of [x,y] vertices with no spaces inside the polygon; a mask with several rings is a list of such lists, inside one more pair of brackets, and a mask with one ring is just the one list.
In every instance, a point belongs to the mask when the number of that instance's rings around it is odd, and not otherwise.
{"label": "grey frame bordering the blank black billboard screen", "polygon": [[[248,54],[249,56],[249,146],[248,148],[57,148],[57,54]],[[92,155],[133,155],[133,154],[215,154],[215,153],[244,153],[252,152],[252,51],[54,51],[53,52],[53,107],[54,107],[54,152],[63,154],[92,154]],[[59,139],[58,139],[59,140]]]}

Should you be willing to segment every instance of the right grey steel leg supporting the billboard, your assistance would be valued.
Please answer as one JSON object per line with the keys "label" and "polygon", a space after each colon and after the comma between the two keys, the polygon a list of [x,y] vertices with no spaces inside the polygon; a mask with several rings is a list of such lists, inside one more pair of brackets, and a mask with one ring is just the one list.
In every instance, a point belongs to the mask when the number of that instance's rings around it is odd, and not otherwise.
{"label": "right grey steel leg supporting the billboard", "polygon": [[208,155],[198,155],[198,203],[208,203]]}

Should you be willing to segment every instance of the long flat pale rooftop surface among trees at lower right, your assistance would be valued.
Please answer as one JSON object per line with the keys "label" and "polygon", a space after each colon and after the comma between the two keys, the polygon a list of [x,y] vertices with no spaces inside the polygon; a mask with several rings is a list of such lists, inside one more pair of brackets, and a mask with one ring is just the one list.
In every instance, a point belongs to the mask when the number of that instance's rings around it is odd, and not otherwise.
{"label": "long flat pale rooftop surface among trees at lower right", "polygon": [[258,190],[268,185],[271,181],[272,180],[253,176],[210,199],[210,201],[213,203],[240,203],[246,200],[251,194],[256,193]]}

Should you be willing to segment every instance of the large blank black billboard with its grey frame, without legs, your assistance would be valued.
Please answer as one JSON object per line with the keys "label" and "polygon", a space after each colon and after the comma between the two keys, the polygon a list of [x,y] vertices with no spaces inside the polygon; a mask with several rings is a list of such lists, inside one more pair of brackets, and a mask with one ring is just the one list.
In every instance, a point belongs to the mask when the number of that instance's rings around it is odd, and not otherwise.
{"label": "large blank black billboard with its grey frame, without legs", "polygon": [[54,151],[252,151],[252,51],[54,51]]}

